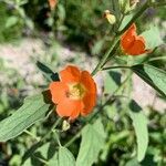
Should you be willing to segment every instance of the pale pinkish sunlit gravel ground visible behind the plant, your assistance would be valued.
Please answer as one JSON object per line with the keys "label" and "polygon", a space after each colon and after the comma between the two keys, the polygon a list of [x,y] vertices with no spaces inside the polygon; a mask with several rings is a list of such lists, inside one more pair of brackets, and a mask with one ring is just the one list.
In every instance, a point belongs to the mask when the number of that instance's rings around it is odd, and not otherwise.
{"label": "pale pinkish sunlit gravel ground visible behind the plant", "polygon": [[[6,65],[18,70],[20,75],[25,77],[27,82],[30,84],[43,82],[42,74],[37,71],[35,64],[31,62],[32,56],[38,59],[39,55],[44,56],[46,54],[45,46],[41,40],[23,39],[19,44],[2,44],[0,45],[0,58],[4,60]],[[82,66],[90,71],[96,64],[96,60],[93,59],[92,62],[92,58],[85,56],[85,53],[75,53],[68,48],[61,46],[58,50],[58,54],[60,54],[60,60],[62,62],[65,62],[69,58],[73,58],[75,54],[79,54],[81,58],[79,61]],[[6,73],[2,75],[6,75]],[[2,75],[0,76],[0,81],[2,80]],[[98,75],[95,79],[98,84],[98,93],[101,94],[103,76]],[[133,75],[133,98],[136,100],[143,107],[153,106],[162,113],[166,110],[166,102],[158,98],[155,91],[137,75]]]}

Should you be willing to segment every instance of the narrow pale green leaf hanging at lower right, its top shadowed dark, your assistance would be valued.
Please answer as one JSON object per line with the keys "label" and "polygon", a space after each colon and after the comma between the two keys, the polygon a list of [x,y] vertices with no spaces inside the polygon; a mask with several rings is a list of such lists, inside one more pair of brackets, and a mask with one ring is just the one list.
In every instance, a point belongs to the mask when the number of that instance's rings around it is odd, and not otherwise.
{"label": "narrow pale green leaf hanging at lower right, its top shadowed dark", "polygon": [[137,159],[141,162],[144,159],[148,146],[147,118],[135,101],[129,103],[129,110],[137,141]]}

